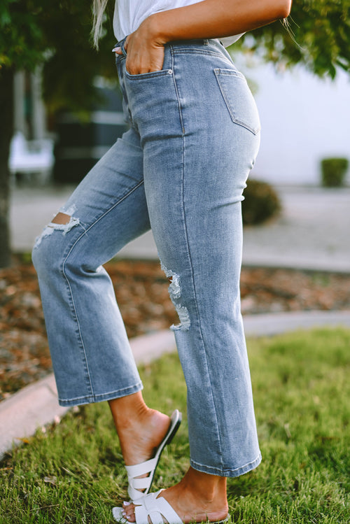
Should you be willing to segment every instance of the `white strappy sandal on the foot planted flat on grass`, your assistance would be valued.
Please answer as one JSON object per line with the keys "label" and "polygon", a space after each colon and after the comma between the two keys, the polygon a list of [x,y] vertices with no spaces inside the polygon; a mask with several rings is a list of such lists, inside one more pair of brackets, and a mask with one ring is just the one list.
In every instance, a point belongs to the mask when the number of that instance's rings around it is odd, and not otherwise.
{"label": "white strappy sandal on the foot planted flat on grass", "polygon": [[[135,506],[136,524],[183,524],[179,515],[170,506],[169,502],[164,497],[158,495],[162,490],[156,493],[150,493],[146,497],[142,497]],[[121,524],[130,524],[130,522],[123,516],[123,508],[113,508],[113,517]],[[228,523],[228,517],[223,521],[211,522],[208,524],[224,524]]]}

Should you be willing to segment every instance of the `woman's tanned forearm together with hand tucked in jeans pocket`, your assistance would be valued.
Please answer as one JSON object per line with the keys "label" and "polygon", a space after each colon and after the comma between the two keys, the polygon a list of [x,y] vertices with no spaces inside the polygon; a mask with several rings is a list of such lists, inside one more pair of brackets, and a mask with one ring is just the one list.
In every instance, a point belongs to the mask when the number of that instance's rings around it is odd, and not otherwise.
{"label": "woman's tanned forearm together with hand tucked in jeans pocket", "polygon": [[[292,0],[204,0],[154,13],[127,37],[127,71],[162,69],[164,45],[176,40],[244,33],[288,16]],[[121,54],[120,48],[116,50]]]}

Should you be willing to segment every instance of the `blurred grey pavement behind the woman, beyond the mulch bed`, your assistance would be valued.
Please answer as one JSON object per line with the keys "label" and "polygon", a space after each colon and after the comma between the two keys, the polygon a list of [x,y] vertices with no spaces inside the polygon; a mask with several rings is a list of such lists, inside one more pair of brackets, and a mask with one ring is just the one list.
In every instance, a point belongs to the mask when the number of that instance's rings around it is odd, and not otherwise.
{"label": "blurred grey pavement behind the woman, beyond the mulch bed", "polygon": [[[10,208],[15,251],[29,251],[41,229],[64,204],[72,187],[17,189]],[[273,222],[244,230],[243,263],[350,273],[350,187],[277,187],[283,211]],[[120,256],[157,258],[151,233]]]}

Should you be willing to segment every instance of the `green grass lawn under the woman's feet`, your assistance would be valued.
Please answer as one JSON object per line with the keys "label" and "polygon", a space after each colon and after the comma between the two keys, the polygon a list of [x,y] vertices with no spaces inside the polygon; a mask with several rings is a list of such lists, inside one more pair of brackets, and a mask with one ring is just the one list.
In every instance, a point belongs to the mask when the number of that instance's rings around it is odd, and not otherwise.
{"label": "green grass lawn under the woman's feet", "polygon": [[[235,523],[348,523],[350,332],[248,341],[262,464],[228,481]],[[146,401],[186,414],[177,355],[141,369]],[[127,479],[106,403],[38,430],[0,464],[0,523],[113,523]],[[186,417],[154,488],[188,467]]]}

